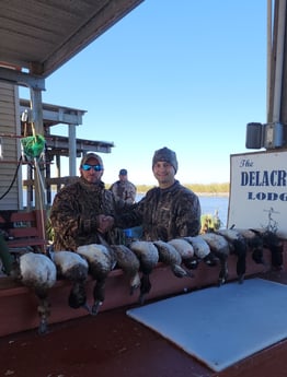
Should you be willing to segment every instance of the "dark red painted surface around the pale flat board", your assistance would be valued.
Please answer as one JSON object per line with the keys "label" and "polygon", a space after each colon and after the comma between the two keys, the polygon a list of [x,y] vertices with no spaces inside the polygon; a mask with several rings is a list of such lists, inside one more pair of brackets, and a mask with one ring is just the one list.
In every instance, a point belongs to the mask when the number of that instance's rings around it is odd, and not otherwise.
{"label": "dark red painted surface around the pale flat board", "polygon": [[[260,276],[287,284],[286,272]],[[45,335],[31,330],[0,338],[0,376],[287,376],[287,341],[215,373],[125,313],[119,308],[50,325]]]}

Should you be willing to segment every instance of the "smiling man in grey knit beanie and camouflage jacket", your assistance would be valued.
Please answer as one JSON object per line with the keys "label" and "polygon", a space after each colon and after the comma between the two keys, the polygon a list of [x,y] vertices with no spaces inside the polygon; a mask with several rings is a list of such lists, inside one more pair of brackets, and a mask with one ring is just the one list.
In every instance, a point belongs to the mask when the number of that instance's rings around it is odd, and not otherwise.
{"label": "smiling man in grey knit beanie and camouflage jacket", "polygon": [[173,151],[156,151],[152,172],[159,187],[134,204],[134,210],[115,217],[114,225],[129,227],[142,225],[142,239],[170,240],[196,236],[200,231],[200,203],[198,197],[174,178],[177,160]]}

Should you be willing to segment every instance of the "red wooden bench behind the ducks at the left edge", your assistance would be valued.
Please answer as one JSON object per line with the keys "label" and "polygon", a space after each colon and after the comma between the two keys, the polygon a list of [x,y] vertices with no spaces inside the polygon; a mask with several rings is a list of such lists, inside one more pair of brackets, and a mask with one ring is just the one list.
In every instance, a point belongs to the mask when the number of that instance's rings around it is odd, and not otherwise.
{"label": "red wooden bench behind the ducks at the left edge", "polygon": [[45,252],[48,245],[45,237],[45,211],[9,212],[5,211],[4,215],[0,212],[0,229],[7,234],[10,252],[14,256],[30,249]]}

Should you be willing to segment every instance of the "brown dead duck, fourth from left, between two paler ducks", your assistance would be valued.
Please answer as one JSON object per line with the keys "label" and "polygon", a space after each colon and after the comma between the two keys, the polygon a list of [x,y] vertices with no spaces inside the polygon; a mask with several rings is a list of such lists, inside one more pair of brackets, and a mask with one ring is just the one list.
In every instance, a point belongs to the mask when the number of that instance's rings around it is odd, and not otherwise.
{"label": "brown dead duck, fourth from left, between two paler ducks", "polygon": [[130,294],[140,286],[139,260],[125,245],[111,245],[115,252],[117,267],[129,278]]}

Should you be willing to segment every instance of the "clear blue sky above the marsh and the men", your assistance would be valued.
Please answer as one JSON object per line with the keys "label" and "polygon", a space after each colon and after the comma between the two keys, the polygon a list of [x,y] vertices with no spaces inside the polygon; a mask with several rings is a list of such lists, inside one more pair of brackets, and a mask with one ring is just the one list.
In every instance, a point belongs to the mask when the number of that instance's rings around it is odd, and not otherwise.
{"label": "clear blue sky above the marsh and the men", "polygon": [[163,146],[182,184],[228,182],[230,155],[254,152],[246,123],[266,122],[266,2],[145,0],[48,76],[43,102],[87,110],[78,138],[114,142],[101,154],[106,184],[126,168],[156,185]]}

